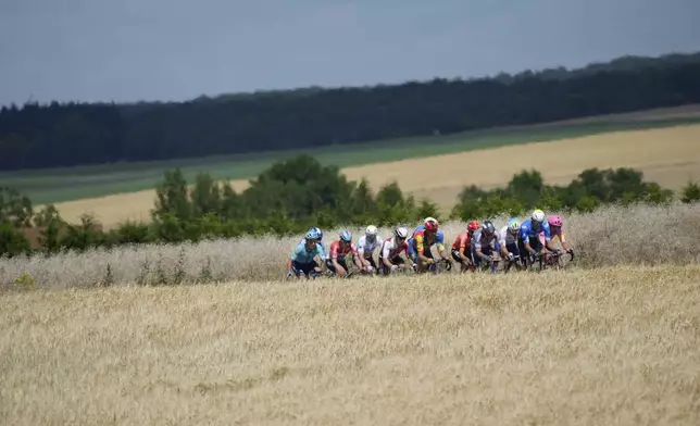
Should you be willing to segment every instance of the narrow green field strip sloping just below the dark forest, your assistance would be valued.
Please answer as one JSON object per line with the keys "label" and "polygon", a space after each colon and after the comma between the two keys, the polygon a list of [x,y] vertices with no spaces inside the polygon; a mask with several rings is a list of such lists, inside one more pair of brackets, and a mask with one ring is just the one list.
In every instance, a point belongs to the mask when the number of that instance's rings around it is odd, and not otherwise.
{"label": "narrow green field strip sloping just below the dark forest", "polygon": [[165,170],[180,167],[188,179],[200,171],[215,178],[241,179],[257,176],[271,163],[298,153],[311,153],[324,164],[340,167],[423,155],[462,152],[499,146],[548,141],[609,131],[670,127],[700,123],[700,117],[610,121],[496,128],[447,136],[380,140],[361,145],[332,146],[312,150],[218,155],[158,162],[118,163],[70,168],[0,173],[0,185],[27,195],[34,203],[53,203],[112,193],[151,189]]}

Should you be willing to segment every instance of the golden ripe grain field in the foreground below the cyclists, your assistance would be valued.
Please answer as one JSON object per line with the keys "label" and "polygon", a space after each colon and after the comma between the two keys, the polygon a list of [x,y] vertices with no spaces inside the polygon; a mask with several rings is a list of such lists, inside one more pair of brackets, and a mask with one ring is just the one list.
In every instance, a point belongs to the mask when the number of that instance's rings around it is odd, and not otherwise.
{"label": "golden ripe grain field in the foreground below the cyclists", "polygon": [[0,296],[11,425],[700,423],[700,266]]}

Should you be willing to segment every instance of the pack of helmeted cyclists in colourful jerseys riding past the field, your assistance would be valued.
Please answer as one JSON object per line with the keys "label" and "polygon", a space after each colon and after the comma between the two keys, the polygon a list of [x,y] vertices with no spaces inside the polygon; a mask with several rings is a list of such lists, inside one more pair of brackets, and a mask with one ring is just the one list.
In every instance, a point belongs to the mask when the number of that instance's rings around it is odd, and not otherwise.
{"label": "pack of helmeted cyclists in colourful jerseys riding past the field", "polygon": [[[412,233],[407,226],[397,226],[386,239],[378,235],[376,226],[370,225],[357,245],[352,233],[341,229],[327,252],[322,240],[321,229],[309,229],[287,261],[287,277],[316,277],[323,273],[323,266],[328,275],[348,277],[351,275],[347,264],[349,255],[361,274],[389,275],[408,268],[425,273],[439,261],[459,264],[462,273],[480,268],[496,273],[501,261],[527,266],[539,256],[574,251],[564,236],[562,217],[547,216],[539,209],[523,222],[511,217],[500,229],[489,220],[470,221],[466,229],[454,239],[449,253],[445,234],[434,217],[426,217]],[[554,245],[555,241],[561,248]],[[433,247],[437,249],[438,259],[435,259]]]}

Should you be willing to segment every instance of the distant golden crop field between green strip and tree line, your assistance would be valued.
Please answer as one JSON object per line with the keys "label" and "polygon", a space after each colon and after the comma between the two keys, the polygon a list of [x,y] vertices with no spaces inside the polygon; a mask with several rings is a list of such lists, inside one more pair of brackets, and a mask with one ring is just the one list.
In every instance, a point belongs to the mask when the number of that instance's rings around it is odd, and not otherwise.
{"label": "distant golden crop field between green strip and tree line", "polygon": [[[504,185],[523,168],[539,170],[549,184],[567,184],[590,167],[635,167],[661,186],[679,189],[700,179],[700,125],[618,131],[550,142],[516,145],[426,159],[347,167],[350,179],[366,177],[373,188],[397,180],[418,199],[450,209],[464,186]],[[235,180],[238,191],[248,180]],[[139,191],[57,203],[68,222],[92,212],[105,228],[126,220],[150,221],[154,191]]]}

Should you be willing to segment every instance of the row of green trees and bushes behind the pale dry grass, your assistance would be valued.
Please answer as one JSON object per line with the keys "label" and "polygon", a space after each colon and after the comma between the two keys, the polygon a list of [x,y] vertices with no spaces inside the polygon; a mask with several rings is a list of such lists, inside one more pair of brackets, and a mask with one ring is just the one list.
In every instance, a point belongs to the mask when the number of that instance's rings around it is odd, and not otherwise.
{"label": "row of green trees and bushes behind the pale dry grass", "polygon": [[[90,216],[66,224],[53,205],[35,212],[16,190],[0,191],[0,255],[57,253],[121,245],[198,241],[209,238],[277,236],[370,223],[391,226],[422,217],[463,221],[498,214],[523,215],[534,208],[589,212],[605,203],[668,203],[673,191],[645,181],[632,168],[582,172],[567,186],[549,186],[537,171],[515,174],[507,186],[483,190],[465,187],[449,215],[429,200],[416,201],[397,183],[376,193],[366,180],[347,180],[336,166],[323,166],[309,155],[280,161],[263,171],[249,188],[236,192],[227,181],[207,173],[188,183],[179,170],[164,173],[157,187],[150,223],[126,222],[109,231]],[[700,200],[700,186],[689,183],[679,199]],[[36,241],[32,247],[30,237]]]}

